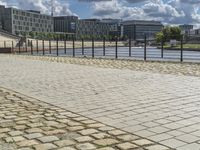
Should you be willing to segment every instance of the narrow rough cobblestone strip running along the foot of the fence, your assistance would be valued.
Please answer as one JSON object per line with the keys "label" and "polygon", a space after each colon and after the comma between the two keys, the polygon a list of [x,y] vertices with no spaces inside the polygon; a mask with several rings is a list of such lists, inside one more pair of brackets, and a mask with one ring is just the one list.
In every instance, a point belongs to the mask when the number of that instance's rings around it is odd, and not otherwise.
{"label": "narrow rough cobblestone strip running along the foot of the fence", "polygon": [[[11,57],[13,57],[11,55]],[[95,59],[95,58],[73,58],[73,57],[46,57],[35,56],[27,57],[26,55],[19,55],[21,58],[29,58],[33,60],[44,60],[51,62],[62,62],[67,64],[87,65],[101,68],[113,68],[113,69],[129,69],[133,71],[143,71],[162,74],[173,75],[187,75],[187,76],[200,76],[200,63],[179,63],[168,61],[138,61],[138,60],[126,60],[126,59]]]}

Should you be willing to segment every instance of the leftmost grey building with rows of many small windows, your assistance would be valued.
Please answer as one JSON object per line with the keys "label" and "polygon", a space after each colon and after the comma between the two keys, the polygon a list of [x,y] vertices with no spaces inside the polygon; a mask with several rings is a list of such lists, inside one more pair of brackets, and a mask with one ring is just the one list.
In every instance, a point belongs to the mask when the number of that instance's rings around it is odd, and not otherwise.
{"label": "leftmost grey building with rows of many small windows", "polygon": [[53,32],[53,18],[34,10],[0,6],[1,28],[18,34],[22,32]]}

